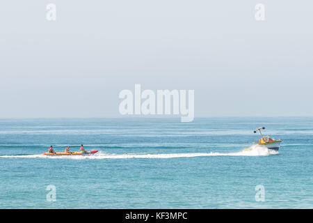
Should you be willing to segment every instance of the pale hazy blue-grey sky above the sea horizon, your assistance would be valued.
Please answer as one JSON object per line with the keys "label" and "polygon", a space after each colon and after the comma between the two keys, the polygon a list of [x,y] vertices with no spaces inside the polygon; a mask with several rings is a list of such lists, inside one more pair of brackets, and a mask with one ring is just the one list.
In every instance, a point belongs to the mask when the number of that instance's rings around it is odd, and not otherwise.
{"label": "pale hazy blue-grey sky above the sea horizon", "polygon": [[[46,19],[56,4],[56,21]],[[264,3],[265,20],[255,20]],[[120,116],[195,90],[195,116],[312,116],[312,1],[1,1],[0,117]]]}

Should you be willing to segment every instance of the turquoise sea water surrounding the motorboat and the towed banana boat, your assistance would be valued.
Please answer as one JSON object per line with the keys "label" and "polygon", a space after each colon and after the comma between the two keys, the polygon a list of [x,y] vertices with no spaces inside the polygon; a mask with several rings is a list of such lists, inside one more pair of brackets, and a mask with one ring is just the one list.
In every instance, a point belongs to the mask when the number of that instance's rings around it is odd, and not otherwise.
{"label": "turquoise sea water surrounding the motorboat and the towed banana boat", "polygon": [[[313,208],[313,118],[0,119],[0,208]],[[282,139],[279,152],[255,147]],[[40,155],[53,145],[99,153]],[[48,185],[56,201],[47,201]],[[256,201],[257,185],[264,201]]]}

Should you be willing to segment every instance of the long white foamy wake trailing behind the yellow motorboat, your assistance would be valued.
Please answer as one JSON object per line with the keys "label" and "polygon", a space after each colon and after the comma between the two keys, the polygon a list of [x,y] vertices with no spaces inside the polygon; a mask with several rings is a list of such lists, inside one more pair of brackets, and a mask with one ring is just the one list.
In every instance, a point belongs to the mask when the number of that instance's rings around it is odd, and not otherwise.
{"label": "long white foamy wake trailing behind the yellow motorboat", "polygon": [[112,154],[99,153],[95,155],[66,155],[66,156],[47,156],[47,155],[0,155],[0,158],[45,158],[45,159],[70,159],[70,160],[103,160],[103,159],[168,159],[179,157],[200,157],[200,156],[268,156],[278,154],[278,151],[273,151],[265,146],[252,146],[248,151],[239,151],[236,153],[163,153],[163,154],[145,154],[145,153],[126,153]]}

